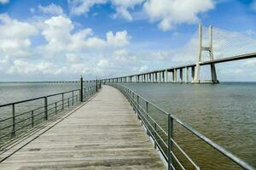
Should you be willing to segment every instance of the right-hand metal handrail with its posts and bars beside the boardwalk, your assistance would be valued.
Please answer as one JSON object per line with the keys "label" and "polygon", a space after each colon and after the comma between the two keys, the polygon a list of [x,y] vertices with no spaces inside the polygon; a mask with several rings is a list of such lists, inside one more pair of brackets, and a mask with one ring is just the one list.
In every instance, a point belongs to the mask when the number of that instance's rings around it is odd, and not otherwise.
{"label": "right-hand metal handrail with its posts and bars beside the boardwalk", "polygon": [[[146,102],[147,105],[152,105],[156,110],[162,112],[164,115],[168,116],[168,122],[172,122],[175,121],[178,124],[180,124],[182,127],[184,127],[185,129],[189,130],[190,133],[195,134],[196,137],[198,137],[199,139],[201,139],[202,141],[204,141],[206,144],[212,146],[213,149],[218,150],[219,153],[221,153],[222,155],[224,155],[225,157],[229,158],[230,161],[233,161],[236,163],[236,165],[242,167],[243,169],[247,169],[247,170],[255,170],[254,167],[252,167],[251,165],[249,165],[246,161],[241,160],[239,157],[235,156],[234,154],[232,154],[229,150],[224,149],[224,147],[220,146],[219,144],[216,144],[215,142],[213,142],[211,139],[208,139],[206,136],[204,136],[203,134],[199,133],[198,131],[196,131],[193,127],[190,127],[189,124],[182,122],[181,120],[179,120],[176,116],[172,115],[171,113],[168,113],[167,111],[164,111],[163,109],[161,109],[159,106],[154,105],[152,102],[148,101],[148,99],[144,99],[142,96],[140,96],[139,94],[135,93],[134,91],[132,91],[129,88],[125,88],[122,85],[116,84],[116,83],[108,83],[109,85],[113,86],[114,88],[119,89],[119,91],[125,95],[125,97],[131,102],[132,107],[135,109],[135,111],[137,112],[137,115],[140,117],[140,119],[142,120],[144,126],[147,128],[147,130],[150,130],[150,128],[152,128],[152,126],[149,124],[149,126],[147,125],[148,120],[146,119],[147,117],[143,116],[143,113],[140,110],[143,110],[143,112],[149,116],[148,111],[145,111],[143,109],[143,106],[139,104],[139,99],[142,99],[144,102]],[[131,95],[132,94],[132,95]],[[135,97],[137,97],[137,99],[135,99]],[[148,106],[147,106],[148,107]],[[148,110],[148,109],[146,109]],[[150,119],[152,119],[152,117],[149,117]],[[145,119],[145,121],[143,121],[143,119]],[[171,120],[169,120],[171,119]],[[153,120],[153,122],[155,122],[155,120]],[[174,159],[177,158],[177,156],[172,156],[174,153],[171,149],[172,144],[175,144],[178,148],[178,150],[181,150],[181,152],[183,153],[184,156],[186,156],[186,158],[193,164],[193,166],[196,169],[199,169],[200,167],[197,166],[195,164],[195,162],[184,152],[184,150],[182,150],[180,148],[180,146],[177,144],[177,142],[175,142],[175,140],[172,138],[172,132],[170,131],[170,126],[172,126],[173,128],[173,123],[169,124],[168,123],[168,132],[167,132],[167,140],[168,142],[168,146],[167,146],[167,150],[170,150],[170,153],[168,153],[169,156],[167,156],[167,162],[168,162],[168,169],[171,169],[174,165],[172,164],[172,157]],[[172,130],[171,128],[171,130]],[[166,133],[164,129],[160,129],[163,133]],[[151,133],[151,132],[150,132]],[[155,132],[153,132],[155,133]],[[154,142],[157,142],[154,136],[151,136],[154,139]],[[159,137],[160,138],[160,137]],[[160,139],[162,140],[162,139]],[[158,147],[161,147],[158,144]],[[163,150],[163,148],[160,148],[160,150]],[[179,163],[178,163],[179,164]],[[181,167],[183,168],[183,165],[181,165]]]}

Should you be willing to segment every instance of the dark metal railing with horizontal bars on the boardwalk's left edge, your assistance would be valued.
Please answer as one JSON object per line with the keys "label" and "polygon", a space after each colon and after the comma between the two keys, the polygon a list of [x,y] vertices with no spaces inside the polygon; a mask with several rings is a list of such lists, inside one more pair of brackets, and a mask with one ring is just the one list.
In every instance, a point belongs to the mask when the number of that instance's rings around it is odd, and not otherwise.
{"label": "dark metal railing with horizontal bars on the boardwalk's left edge", "polygon": [[0,105],[0,148],[59,112],[86,101],[100,88],[101,83],[85,88],[81,83],[79,89]]}

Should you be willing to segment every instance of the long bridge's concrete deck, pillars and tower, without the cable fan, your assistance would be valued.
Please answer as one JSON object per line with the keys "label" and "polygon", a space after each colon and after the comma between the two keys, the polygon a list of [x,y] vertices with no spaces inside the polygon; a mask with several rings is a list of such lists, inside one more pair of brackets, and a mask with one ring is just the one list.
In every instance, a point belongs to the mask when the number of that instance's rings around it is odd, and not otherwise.
{"label": "long bridge's concrete deck, pillars and tower, without the cable fan", "polygon": [[[202,43],[202,26],[199,25],[198,29],[198,47],[199,47],[199,53],[196,56],[196,62],[189,65],[179,65],[171,68],[166,69],[160,69],[156,71],[147,71],[143,73],[123,76],[123,77],[113,77],[113,78],[105,78],[102,79],[102,82],[183,82],[183,70],[185,71],[185,77],[184,82],[189,82],[189,75],[191,77],[192,83],[218,83],[217,79],[217,73],[215,69],[215,64],[218,63],[224,63],[224,62],[230,62],[230,61],[236,61],[240,59],[252,59],[256,57],[256,53],[247,53],[247,54],[241,54],[236,53],[233,54],[233,56],[228,55],[229,57],[224,58],[213,58],[213,48],[212,48],[212,26],[208,29],[208,39],[209,42],[208,45],[205,45]],[[241,41],[241,39],[239,39]],[[252,41],[249,43],[250,45],[245,46],[244,44],[247,44],[245,42],[242,42],[242,45],[245,47],[241,48],[249,48],[249,52],[253,51]],[[255,41],[256,44],[256,41]],[[241,45],[241,46],[242,46]],[[226,48],[226,47],[224,47]],[[204,51],[207,51],[209,54],[209,60],[202,61],[202,53]],[[233,49],[231,51],[236,51],[236,49]],[[244,52],[243,50],[242,52]],[[255,50],[256,51],[256,47]],[[210,80],[200,80],[200,69],[202,65],[210,65],[211,66],[211,79]],[[189,74],[189,71],[191,72]],[[169,81],[169,73],[172,74],[172,81]],[[179,77],[177,77],[177,73],[179,73]]]}

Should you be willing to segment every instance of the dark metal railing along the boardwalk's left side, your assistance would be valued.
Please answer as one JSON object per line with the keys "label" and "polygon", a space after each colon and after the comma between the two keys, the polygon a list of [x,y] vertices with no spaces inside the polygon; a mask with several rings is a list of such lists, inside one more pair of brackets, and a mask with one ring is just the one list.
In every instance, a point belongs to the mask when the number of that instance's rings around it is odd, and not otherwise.
{"label": "dark metal railing along the boardwalk's left side", "polygon": [[[100,88],[102,88],[101,83],[96,82],[95,85],[91,85],[90,87],[84,88],[83,86],[81,86],[80,89],[73,89],[58,94],[49,94],[38,98],[25,99],[9,104],[0,105],[0,109],[6,106],[12,107],[12,115],[0,120],[0,125],[3,125],[0,127],[0,148],[3,145],[9,143],[9,140],[7,139],[9,135],[10,139],[15,138],[17,131],[21,131],[22,129],[28,127],[29,125],[32,125],[32,127],[34,127],[36,125],[35,122],[38,122],[38,125],[42,121],[47,121],[48,116],[51,116],[53,113],[57,114],[59,111],[63,111],[64,109],[69,108],[71,105],[78,104],[79,102],[83,102],[84,100],[86,101],[86,99],[88,99],[90,95],[95,94]],[[52,103],[48,103],[50,97],[57,95],[61,95],[60,100],[55,100],[51,101]],[[43,99],[44,104],[35,105],[38,107],[29,111],[15,111],[15,106],[17,104],[26,103],[38,99]],[[38,118],[35,118],[36,116],[38,116]],[[27,122],[29,122],[29,124],[27,124]]]}

